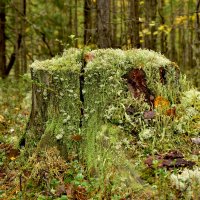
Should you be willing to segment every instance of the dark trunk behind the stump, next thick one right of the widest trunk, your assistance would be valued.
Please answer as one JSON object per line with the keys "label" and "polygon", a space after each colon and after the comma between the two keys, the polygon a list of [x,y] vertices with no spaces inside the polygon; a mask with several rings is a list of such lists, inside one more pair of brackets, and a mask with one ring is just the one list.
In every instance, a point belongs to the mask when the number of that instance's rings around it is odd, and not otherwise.
{"label": "dark trunk behind the stump, next thick one right of the widest trunk", "polygon": [[140,48],[139,0],[130,0],[130,39],[133,47]]}

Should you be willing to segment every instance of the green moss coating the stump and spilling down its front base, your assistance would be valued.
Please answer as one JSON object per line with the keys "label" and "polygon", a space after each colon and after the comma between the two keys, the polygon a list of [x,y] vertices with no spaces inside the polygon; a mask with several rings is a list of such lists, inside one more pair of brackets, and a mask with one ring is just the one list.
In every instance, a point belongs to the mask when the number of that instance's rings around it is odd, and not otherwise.
{"label": "green moss coating the stump and spilling down its front base", "polygon": [[[96,177],[104,191],[112,188],[113,194],[130,194],[143,190],[135,174],[143,159],[136,145],[148,154],[162,151],[163,147],[173,148],[178,141],[178,136],[173,137],[177,121],[174,116],[166,116],[166,109],[161,112],[144,98],[133,98],[124,77],[132,69],[143,69],[154,97],[167,99],[169,108],[176,105],[177,110],[181,109],[181,93],[189,85],[174,63],[153,51],[87,51],[91,60],[86,64],[84,53],[70,49],[62,57],[32,65],[36,88],[40,88],[36,100],[45,105],[38,112],[43,127],[42,135],[37,137],[38,148],[55,145],[62,155],[74,148],[77,153],[83,152],[80,158],[86,163],[88,175]],[[161,81],[161,67],[166,72],[165,84]],[[129,114],[127,108],[133,108],[133,113]],[[151,109],[155,118],[144,119],[144,112]],[[74,134],[82,136],[79,143],[71,140]],[[131,162],[135,154],[139,164]]]}

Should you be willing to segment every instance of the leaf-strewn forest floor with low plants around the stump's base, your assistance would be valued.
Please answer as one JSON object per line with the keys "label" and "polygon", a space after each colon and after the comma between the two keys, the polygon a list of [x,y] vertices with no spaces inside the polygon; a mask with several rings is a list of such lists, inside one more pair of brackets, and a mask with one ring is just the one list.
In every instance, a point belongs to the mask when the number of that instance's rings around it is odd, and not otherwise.
{"label": "leaf-strewn forest floor with low plants around the stump's base", "polygon": [[[100,191],[98,186],[95,185],[95,179],[89,180],[86,176],[84,177],[83,163],[78,163],[76,160],[67,163],[56,154],[56,150],[53,150],[56,159],[53,160],[52,150],[49,150],[46,157],[43,157],[47,159],[46,162],[48,161],[49,165],[45,165],[48,172],[41,172],[40,177],[34,179],[37,184],[32,183],[30,180],[33,179],[30,177],[33,177],[36,173],[32,171],[33,164],[41,165],[41,162],[33,161],[32,165],[27,164],[25,158],[23,158],[24,149],[19,148],[19,139],[26,128],[30,107],[30,82],[11,79],[0,81],[0,199],[133,198],[129,195],[122,198],[119,195],[109,197],[109,194],[103,194],[106,191]],[[170,182],[172,171],[181,174],[178,170],[180,166],[192,168],[193,165],[196,167],[200,165],[198,141],[192,142],[191,136],[184,134],[175,135],[171,141],[168,140],[167,142],[166,148],[163,147],[162,152],[158,153],[154,160],[151,156],[148,156],[147,144],[141,147],[137,142],[135,143],[134,162],[137,163],[138,167],[142,166],[138,175],[139,182],[144,183],[144,185],[151,185],[151,189],[147,186],[145,192],[136,191],[137,196],[134,199],[166,199],[167,195],[168,199],[200,198],[200,181],[199,179],[196,182],[194,180],[195,176],[200,176],[199,168],[195,168],[196,171],[185,172],[182,179],[174,175],[171,180],[174,178],[176,183],[173,185]],[[49,158],[51,156],[52,159]],[[44,175],[49,171],[52,172],[50,175]],[[43,175],[41,175],[42,173]],[[191,176],[192,180],[188,176]],[[63,177],[65,181],[62,181]],[[42,186],[40,185],[40,178],[44,179]],[[195,182],[195,184],[192,184],[192,182]],[[154,192],[154,189],[156,192]],[[26,193],[27,191],[30,193],[26,194],[25,198],[24,190]],[[101,197],[98,198],[97,193],[101,193]],[[96,198],[93,198],[93,196],[96,196]],[[103,198],[103,196],[105,197]]]}

